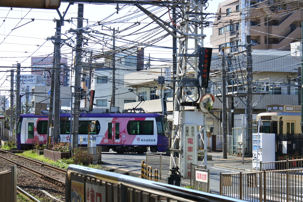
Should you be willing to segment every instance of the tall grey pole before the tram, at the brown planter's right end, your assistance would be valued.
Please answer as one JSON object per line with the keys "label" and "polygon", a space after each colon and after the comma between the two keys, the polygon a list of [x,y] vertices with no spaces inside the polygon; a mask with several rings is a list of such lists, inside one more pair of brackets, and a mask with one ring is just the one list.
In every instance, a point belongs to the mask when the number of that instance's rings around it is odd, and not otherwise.
{"label": "tall grey pole before the tram, at the brown planter's right end", "polygon": [[75,65],[75,106],[73,118],[73,145],[72,150],[78,147],[79,135],[79,115],[80,115],[80,85],[81,85],[81,69],[82,69],[82,27],[83,27],[83,4],[78,4],[78,17],[77,17],[77,36],[76,36],[76,65]]}

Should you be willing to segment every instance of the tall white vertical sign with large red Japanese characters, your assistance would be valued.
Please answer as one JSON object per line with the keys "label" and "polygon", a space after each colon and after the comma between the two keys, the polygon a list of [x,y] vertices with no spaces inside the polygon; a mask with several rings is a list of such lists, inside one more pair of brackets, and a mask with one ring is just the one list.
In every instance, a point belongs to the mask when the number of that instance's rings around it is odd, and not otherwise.
{"label": "tall white vertical sign with large red Japanese characters", "polygon": [[197,164],[197,125],[184,125],[183,178],[191,177],[191,163]]}

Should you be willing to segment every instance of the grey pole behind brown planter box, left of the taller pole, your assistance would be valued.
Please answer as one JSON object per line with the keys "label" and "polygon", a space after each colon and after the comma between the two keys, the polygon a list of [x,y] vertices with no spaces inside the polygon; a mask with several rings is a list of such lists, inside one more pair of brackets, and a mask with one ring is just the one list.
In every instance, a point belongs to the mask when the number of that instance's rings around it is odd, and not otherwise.
{"label": "grey pole behind brown planter box, left of the taller pole", "polygon": [[55,85],[54,85],[54,143],[60,138],[60,73],[61,73],[61,20],[56,20]]}

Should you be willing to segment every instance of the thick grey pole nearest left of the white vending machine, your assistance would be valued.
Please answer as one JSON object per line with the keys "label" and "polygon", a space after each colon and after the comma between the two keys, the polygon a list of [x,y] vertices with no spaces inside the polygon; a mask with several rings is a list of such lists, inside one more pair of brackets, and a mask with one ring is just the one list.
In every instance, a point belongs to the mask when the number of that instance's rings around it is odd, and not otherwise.
{"label": "thick grey pole nearest left of the white vending machine", "polygon": [[247,155],[252,155],[252,58],[251,36],[246,37],[247,46]]}

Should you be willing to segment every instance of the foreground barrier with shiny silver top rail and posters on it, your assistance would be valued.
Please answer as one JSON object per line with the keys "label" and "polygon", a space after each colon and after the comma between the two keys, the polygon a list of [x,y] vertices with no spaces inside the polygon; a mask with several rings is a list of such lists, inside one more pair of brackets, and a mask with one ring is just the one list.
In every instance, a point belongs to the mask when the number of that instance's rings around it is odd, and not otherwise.
{"label": "foreground barrier with shiny silver top rail and posters on it", "polygon": [[179,201],[179,202],[241,202],[216,194],[167,185],[123,174],[80,165],[66,171],[65,201]]}

